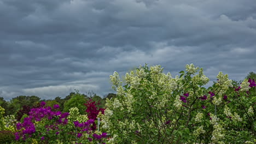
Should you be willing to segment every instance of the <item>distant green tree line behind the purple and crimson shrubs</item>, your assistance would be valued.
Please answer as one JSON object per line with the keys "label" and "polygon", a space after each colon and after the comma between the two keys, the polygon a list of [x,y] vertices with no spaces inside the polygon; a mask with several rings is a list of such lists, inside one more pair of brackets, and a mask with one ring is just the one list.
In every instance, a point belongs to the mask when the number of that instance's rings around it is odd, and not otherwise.
{"label": "distant green tree line behind the purple and crimson shrubs", "polygon": [[77,90],[69,93],[69,95],[67,95],[65,98],[56,97],[55,99],[48,100],[41,99],[35,95],[19,95],[18,97],[12,98],[9,101],[4,100],[3,97],[0,97],[0,106],[5,110],[3,116],[14,115],[15,118],[20,121],[22,117],[28,115],[30,109],[39,107],[40,101],[45,101],[46,106],[51,107],[53,107],[54,104],[58,104],[61,112],[69,112],[69,109],[72,107],[77,107],[81,114],[85,114],[86,106],[83,104],[87,104],[87,101],[90,99],[99,103],[97,107],[104,108],[106,99],[115,97],[115,95],[116,94],[114,93],[108,93],[106,96],[101,98],[94,92],[86,92],[86,94],[82,94]]}

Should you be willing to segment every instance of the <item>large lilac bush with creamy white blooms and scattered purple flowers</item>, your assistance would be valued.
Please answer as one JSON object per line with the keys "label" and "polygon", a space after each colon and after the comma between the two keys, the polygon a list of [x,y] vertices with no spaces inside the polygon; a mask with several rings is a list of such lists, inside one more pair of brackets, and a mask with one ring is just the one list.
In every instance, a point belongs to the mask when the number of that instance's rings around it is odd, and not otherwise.
{"label": "large lilac bush with creamy white blooms and scattered purple flowers", "polygon": [[221,71],[212,87],[194,64],[173,78],[160,65],[139,66],[126,73],[122,85],[118,73],[110,75],[117,97],[107,99],[104,125],[113,143],[245,143],[255,133],[256,86],[244,80],[232,87]]}

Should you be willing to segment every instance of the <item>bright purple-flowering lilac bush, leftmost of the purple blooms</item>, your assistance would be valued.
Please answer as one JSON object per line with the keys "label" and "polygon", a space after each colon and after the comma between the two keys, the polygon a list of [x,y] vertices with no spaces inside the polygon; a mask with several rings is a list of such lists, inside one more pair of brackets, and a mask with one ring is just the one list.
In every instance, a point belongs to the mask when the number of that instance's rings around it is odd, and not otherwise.
{"label": "bright purple-flowering lilac bush, leftmost of the purple blooms", "polygon": [[[45,106],[44,101],[41,102],[42,107],[33,108],[29,112],[29,116],[24,118],[24,122],[18,122],[15,133],[15,139],[24,143],[56,143],[67,142],[70,137],[67,136],[69,129],[67,127],[68,112],[52,111],[50,106]],[[54,106],[55,109],[58,106]]]}

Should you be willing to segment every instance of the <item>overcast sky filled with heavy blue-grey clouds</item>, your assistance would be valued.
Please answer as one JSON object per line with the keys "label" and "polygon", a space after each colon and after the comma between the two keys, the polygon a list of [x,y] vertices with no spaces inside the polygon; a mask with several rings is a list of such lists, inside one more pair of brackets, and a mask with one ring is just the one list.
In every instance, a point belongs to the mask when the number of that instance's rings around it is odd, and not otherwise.
{"label": "overcast sky filled with heavy blue-grey clouds", "polygon": [[[140,64],[256,71],[255,0],[0,0],[0,97],[103,97]],[[211,83],[210,82],[210,83]]]}

